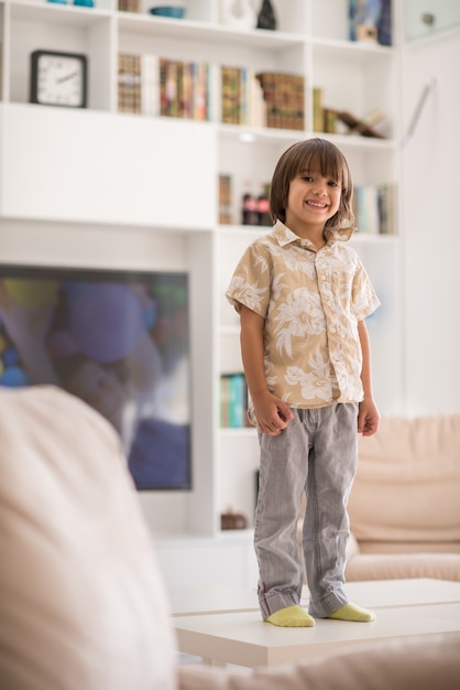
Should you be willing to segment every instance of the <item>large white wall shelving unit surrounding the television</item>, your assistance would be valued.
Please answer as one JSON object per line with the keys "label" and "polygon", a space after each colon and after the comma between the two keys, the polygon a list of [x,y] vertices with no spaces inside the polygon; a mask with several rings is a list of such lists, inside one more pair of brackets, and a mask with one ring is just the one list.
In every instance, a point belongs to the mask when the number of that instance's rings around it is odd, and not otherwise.
{"label": "large white wall shelving unit surrounding the television", "polygon": [[[220,375],[241,370],[238,315],[224,290],[248,244],[269,230],[241,225],[243,194],[260,195],[283,151],[313,136],[343,149],[358,185],[397,186],[401,179],[397,44],[348,41],[348,0],[274,4],[277,30],[263,31],[223,24],[220,0],[189,0],[184,20],[152,17],[145,8],[119,11],[117,0],[96,0],[90,9],[0,0],[0,230],[7,260],[22,256],[28,262],[103,261],[146,269],[161,262],[190,271],[194,435],[200,445],[194,492],[152,498],[150,519],[165,531],[217,535],[228,505],[249,515],[253,510],[252,493],[248,504],[238,505],[238,485],[247,481],[248,467],[251,473],[256,467],[255,432],[220,429],[218,395]],[[88,56],[85,111],[29,104],[30,54],[37,48]],[[209,65],[209,119],[119,112],[120,53]],[[222,123],[222,65],[304,77],[305,128]],[[348,134],[344,127],[314,131],[316,88],[322,89],[325,107],[359,118],[382,109],[386,138]],[[219,223],[219,175],[231,179],[229,225]],[[398,215],[396,208],[394,229]],[[401,241],[397,235],[364,234],[352,241],[383,295],[371,337],[376,395],[385,410],[402,379]],[[379,364],[388,360],[395,363],[390,373]]]}

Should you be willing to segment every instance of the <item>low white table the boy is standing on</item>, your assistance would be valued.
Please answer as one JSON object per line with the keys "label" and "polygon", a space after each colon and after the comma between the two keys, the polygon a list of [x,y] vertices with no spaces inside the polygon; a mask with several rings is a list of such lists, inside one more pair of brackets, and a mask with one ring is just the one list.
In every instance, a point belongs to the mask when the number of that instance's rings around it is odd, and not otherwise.
{"label": "low white table the boy is standing on", "polygon": [[[213,662],[254,668],[311,658],[330,653],[331,648],[343,650],[390,638],[460,632],[458,582],[427,579],[353,582],[347,585],[347,591],[357,604],[374,608],[377,619],[373,623],[318,619],[314,628],[278,628],[263,623],[255,592],[252,592],[254,608],[242,610],[240,606],[251,605],[251,593],[231,590],[226,596],[224,587],[216,590],[204,614],[202,591],[196,600],[199,605],[195,615],[190,601],[188,615],[172,618],[178,650]],[[218,610],[220,596],[224,613]]]}

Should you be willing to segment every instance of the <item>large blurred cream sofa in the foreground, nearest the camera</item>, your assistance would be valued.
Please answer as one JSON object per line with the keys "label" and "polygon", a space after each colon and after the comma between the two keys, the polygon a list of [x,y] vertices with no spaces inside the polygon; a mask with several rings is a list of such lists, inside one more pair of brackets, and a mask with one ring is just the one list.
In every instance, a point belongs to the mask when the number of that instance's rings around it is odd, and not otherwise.
{"label": "large blurred cream sofa in the foreground, nearest the camera", "polygon": [[166,591],[118,438],[62,390],[0,388],[0,476],[2,690],[459,687],[460,635],[248,673],[177,667]]}

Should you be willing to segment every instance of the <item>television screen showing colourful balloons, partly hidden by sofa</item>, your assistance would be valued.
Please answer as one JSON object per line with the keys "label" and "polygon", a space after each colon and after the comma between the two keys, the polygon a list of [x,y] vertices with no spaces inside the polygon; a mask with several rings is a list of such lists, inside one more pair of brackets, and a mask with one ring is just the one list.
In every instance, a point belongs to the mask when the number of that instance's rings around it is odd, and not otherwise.
{"label": "television screen showing colourful balloons, partly hidden by sofa", "polygon": [[187,273],[0,266],[0,385],[97,409],[139,489],[191,487],[189,369]]}

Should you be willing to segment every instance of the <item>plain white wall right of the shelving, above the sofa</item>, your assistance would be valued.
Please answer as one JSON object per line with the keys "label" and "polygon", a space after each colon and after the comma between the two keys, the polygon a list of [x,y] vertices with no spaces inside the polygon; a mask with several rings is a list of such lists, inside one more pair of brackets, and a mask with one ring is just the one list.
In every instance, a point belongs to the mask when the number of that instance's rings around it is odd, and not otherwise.
{"label": "plain white wall right of the shelving, above the sofa", "polygon": [[460,411],[460,29],[407,44],[404,155],[405,390],[410,414]]}

